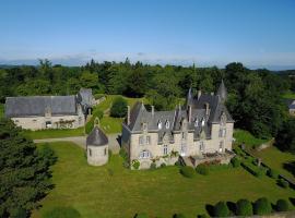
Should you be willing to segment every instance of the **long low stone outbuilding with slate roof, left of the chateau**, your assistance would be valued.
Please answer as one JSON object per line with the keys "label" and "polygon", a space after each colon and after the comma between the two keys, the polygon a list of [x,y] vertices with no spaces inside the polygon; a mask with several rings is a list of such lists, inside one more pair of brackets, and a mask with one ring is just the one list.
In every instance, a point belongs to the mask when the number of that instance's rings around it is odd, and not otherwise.
{"label": "long low stone outbuilding with slate roof, left of the chateau", "polygon": [[75,129],[84,126],[94,104],[86,88],[70,96],[7,97],[5,117],[28,130]]}

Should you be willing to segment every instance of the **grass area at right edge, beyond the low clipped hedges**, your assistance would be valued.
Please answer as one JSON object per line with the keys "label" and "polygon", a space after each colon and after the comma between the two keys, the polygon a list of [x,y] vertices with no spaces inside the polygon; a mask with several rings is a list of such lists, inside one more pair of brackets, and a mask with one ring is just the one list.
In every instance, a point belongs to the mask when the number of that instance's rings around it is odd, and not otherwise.
{"label": "grass area at right edge, beyond the low clipped hedges", "polygon": [[295,155],[291,153],[283,153],[276,147],[271,146],[260,152],[251,152],[255,156],[260,157],[264,164],[273,168],[278,172],[286,175],[295,182],[295,177],[284,169],[284,164],[295,161]]}

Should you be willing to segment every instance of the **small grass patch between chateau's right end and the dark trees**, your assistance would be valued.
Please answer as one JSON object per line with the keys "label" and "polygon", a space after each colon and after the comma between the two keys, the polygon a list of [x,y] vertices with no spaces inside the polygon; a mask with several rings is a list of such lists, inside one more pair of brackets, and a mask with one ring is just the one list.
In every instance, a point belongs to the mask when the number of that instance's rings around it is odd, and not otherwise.
{"label": "small grass patch between chateau's right end and the dark trees", "polygon": [[234,137],[236,138],[235,144],[240,145],[241,143],[245,143],[247,147],[257,147],[270,141],[270,138],[269,140],[257,138],[248,131],[239,129],[236,129],[234,131]]}

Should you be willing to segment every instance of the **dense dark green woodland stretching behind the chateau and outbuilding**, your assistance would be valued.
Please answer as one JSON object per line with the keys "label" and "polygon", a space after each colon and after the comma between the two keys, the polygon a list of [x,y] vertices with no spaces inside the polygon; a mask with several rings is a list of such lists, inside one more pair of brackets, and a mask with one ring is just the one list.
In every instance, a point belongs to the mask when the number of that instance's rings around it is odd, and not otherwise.
{"label": "dense dark green woodland stretching behind the chateau and outbuilding", "polygon": [[249,70],[241,63],[225,69],[196,65],[150,65],[141,62],[88,62],[84,66],[52,65],[40,60],[38,66],[15,66],[0,70],[0,101],[7,96],[68,95],[80,87],[94,94],[145,96],[158,110],[174,109],[189,87],[197,93],[216,92],[223,78],[228,89],[227,107],[236,128],[258,137],[275,136],[287,119],[282,94],[295,90],[290,72],[274,73],[266,69]]}

